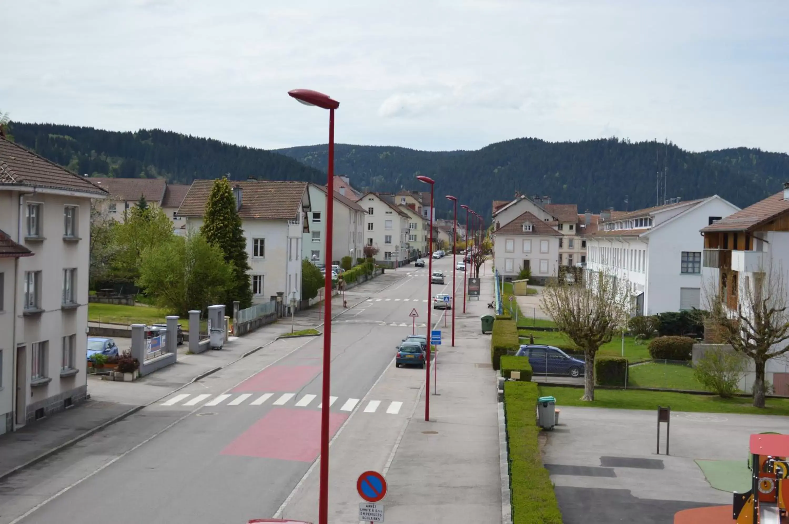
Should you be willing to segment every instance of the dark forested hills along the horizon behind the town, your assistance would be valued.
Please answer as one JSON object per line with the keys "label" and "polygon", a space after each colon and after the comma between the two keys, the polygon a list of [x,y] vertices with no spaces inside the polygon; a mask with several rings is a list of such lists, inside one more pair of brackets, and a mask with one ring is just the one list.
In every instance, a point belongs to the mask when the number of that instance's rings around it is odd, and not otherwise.
{"label": "dark forested hills along the horizon behind the town", "polygon": [[[81,174],[165,177],[181,184],[225,173],[235,180],[325,180],[325,144],[264,151],[158,129],[108,132],[20,122],[12,123],[11,132],[18,143]],[[435,178],[441,217],[451,209],[444,195],[489,216],[493,199],[510,199],[515,191],[576,203],[581,212],[654,206],[656,173],[664,170],[669,198],[718,194],[744,207],[780,191],[781,183],[789,180],[789,155],[746,148],[691,153],[671,143],[619,139],[513,139],[478,151],[335,147],[335,173],[349,176],[361,190],[425,190],[414,177]]]}

